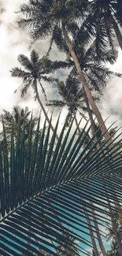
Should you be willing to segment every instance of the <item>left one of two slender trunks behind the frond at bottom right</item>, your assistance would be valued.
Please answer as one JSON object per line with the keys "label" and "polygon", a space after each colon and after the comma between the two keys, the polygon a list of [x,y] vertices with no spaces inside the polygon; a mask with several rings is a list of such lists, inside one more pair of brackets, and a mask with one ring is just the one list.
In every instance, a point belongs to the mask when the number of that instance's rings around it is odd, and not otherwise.
{"label": "left one of two slender trunks behind the frond at bottom right", "polygon": [[97,248],[97,245],[96,245],[96,242],[95,242],[95,239],[94,239],[94,232],[93,232],[93,229],[91,228],[91,221],[90,221],[90,219],[87,215],[87,209],[86,209],[86,207],[83,207],[83,209],[84,209],[85,217],[86,217],[86,220],[87,220],[87,226],[88,226],[90,236],[91,236],[91,243],[92,243],[92,246],[93,246],[94,255],[99,256],[98,248]]}

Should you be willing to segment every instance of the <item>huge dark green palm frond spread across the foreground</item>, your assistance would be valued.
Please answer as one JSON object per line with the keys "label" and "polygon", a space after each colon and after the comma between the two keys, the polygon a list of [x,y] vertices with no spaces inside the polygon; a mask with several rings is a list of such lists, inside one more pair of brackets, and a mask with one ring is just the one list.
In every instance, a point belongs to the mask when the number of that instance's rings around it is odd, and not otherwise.
{"label": "huge dark green palm frond spread across the foreground", "polygon": [[0,154],[0,253],[3,255],[43,255],[44,251],[57,255],[57,244],[60,250],[66,247],[87,254],[84,248],[91,247],[91,240],[85,215],[92,221],[91,210],[95,210],[98,223],[109,224],[109,205],[114,210],[114,201],[122,201],[122,158],[116,140],[111,150],[107,142],[96,151],[93,137],[92,143],[89,142],[93,146],[88,143],[83,149],[90,127],[86,124],[77,138],[77,130],[71,135],[71,124],[66,133],[64,125],[55,144],[58,123],[59,118],[51,136],[50,125],[45,133],[45,122],[41,137],[38,124],[35,142],[30,125],[26,145],[25,124],[23,139],[18,125],[15,145],[12,128],[10,155],[3,124],[4,147]]}

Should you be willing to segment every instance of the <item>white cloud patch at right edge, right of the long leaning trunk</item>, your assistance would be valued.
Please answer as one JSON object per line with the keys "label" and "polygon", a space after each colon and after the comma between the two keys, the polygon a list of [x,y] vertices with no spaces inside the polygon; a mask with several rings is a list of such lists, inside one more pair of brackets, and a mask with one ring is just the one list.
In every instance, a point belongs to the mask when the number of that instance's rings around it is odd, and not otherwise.
{"label": "white cloud patch at right edge, right of the long leaning trunk", "polygon": [[[116,63],[109,65],[109,68],[114,72],[120,72],[122,74],[121,59],[122,51],[119,50]],[[114,77],[109,80],[100,107],[104,119],[110,116],[106,122],[108,125],[113,124],[114,121],[117,121],[114,126],[118,125],[120,127],[122,125],[122,78]]]}

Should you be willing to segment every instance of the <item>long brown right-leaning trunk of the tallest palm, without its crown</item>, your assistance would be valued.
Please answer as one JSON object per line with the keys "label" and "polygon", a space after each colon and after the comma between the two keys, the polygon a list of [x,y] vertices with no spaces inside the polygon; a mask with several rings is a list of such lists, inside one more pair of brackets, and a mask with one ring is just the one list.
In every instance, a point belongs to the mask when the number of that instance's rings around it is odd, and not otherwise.
{"label": "long brown right-leaning trunk of the tallest palm, without its crown", "polygon": [[[105,123],[102,119],[102,115],[101,115],[101,113],[98,109],[98,106],[95,104],[94,98],[91,95],[91,90],[87,86],[87,81],[85,79],[85,76],[83,74],[82,69],[80,68],[78,58],[76,57],[76,54],[75,54],[74,50],[72,49],[72,43],[71,43],[71,41],[68,37],[68,33],[66,32],[66,29],[65,29],[64,25],[62,25],[62,29],[63,29],[63,33],[64,33],[64,37],[65,37],[65,42],[68,46],[69,53],[71,54],[72,59],[75,62],[77,72],[79,73],[79,79],[80,79],[81,83],[83,84],[83,89],[84,89],[84,91],[87,95],[88,101],[91,104],[91,108],[92,108],[92,110],[93,110],[93,112],[94,112],[94,114],[95,114],[95,116],[98,120],[98,124],[99,124],[99,127],[102,130],[102,134],[104,134],[105,140],[109,139],[109,142],[112,142],[112,139],[110,138],[109,132],[108,132],[107,128],[105,127]],[[112,146],[110,146],[110,147],[112,147]]]}

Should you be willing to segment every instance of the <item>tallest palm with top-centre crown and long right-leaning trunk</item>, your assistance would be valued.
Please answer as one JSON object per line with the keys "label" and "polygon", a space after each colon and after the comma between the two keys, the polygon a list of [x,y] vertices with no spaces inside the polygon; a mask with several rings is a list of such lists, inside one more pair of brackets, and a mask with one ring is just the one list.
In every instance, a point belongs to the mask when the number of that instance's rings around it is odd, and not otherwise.
{"label": "tallest palm with top-centre crown and long right-leaning trunk", "polygon": [[[105,123],[102,119],[102,115],[98,110],[98,106],[94,102],[94,98],[91,95],[91,90],[87,84],[87,80],[83,74],[83,70],[79,64],[78,56],[76,55],[76,49],[72,44],[72,39],[69,38],[69,33],[77,28],[77,22],[84,13],[84,8],[87,5],[87,1],[80,1],[79,9],[77,1],[72,6],[72,1],[28,1],[27,4],[20,5],[20,11],[26,18],[20,20],[20,26],[29,26],[31,28],[31,38],[45,39],[47,36],[51,36],[51,44],[53,42],[59,42],[59,36],[61,35],[65,39],[66,46],[62,44],[60,50],[64,50],[72,56],[72,59],[76,65],[77,74],[79,74],[79,80],[83,84],[83,89],[87,95],[88,101],[91,104],[91,109],[95,114],[99,127],[102,129],[105,139],[110,139],[109,132],[105,127]],[[45,7],[44,7],[45,6]],[[72,8],[73,7],[73,8]],[[60,36],[60,39],[61,39]],[[85,34],[86,36],[86,34]],[[90,38],[87,36],[87,40]],[[62,42],[64,43],[64,41]],[[57,45],[58,46],[58,45]],[[112,141],[111,146],[112,147]]]}

